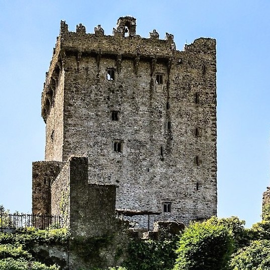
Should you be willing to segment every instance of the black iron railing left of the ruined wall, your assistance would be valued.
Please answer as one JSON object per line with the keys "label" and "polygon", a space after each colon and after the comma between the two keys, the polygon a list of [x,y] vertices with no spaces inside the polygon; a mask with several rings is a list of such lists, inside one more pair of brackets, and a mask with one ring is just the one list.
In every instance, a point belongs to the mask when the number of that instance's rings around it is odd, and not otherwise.
{"label": "black iron railing left of the ruined wall", "polygon": [[12,232],[26,227],[38,229],[63,228],[64,224],[60,216],[0,213],[1,232]]}

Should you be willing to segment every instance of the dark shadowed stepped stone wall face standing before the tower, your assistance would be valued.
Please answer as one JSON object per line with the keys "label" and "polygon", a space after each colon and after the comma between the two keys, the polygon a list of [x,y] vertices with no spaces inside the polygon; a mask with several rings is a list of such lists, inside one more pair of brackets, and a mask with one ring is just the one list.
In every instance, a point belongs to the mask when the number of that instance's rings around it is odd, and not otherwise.
{"label": "dark shadowed stepped stone wall face standing before the tower", "polygon": [[114,231],[116,187],[88,184],[87,157],[72,157],[69,166],[71,234],[98,237]]}

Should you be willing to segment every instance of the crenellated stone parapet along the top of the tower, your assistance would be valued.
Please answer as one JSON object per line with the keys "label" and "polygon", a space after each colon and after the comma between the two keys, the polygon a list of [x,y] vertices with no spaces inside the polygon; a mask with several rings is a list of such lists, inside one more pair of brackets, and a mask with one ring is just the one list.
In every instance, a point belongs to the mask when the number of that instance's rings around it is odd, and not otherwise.
{"label": "crenellated stone parapet along the top of the tower", "polygon": [[[125,34],[128,33],[128,36]],[[57,84],[59,70],[64,68],[64,61],[67,54],[75,54],[77,57],[90,55],[93,57],[109,56],[116,60],[121,57],[135,59],[140,57],[145,61],[152,59],[170,61],[179,55],[189,53],[216,55],[216,40],[211,38],[199,38],[192,44],[185,45],[185,51],[176,50],[173,42],[173,35],[166,33],[164,40],[159,39],[156,30],[150,33],[150,38],[142,38],[136,35],[136,19],[133,17],[121,17],[118,20],[117,28],[114,29],[114,36],[104,35],[101,25],[95,27],[95,34],[86,34],[85,27],[77,25],[76,32],[68,31],[68,25],[61,21],[60,35],[57,37],[53,57],[49,71],[46,73],[42,93],[42,117],[46,122],[46,107],[51,106],[53,89]],[[215,63],[214,63],[215,64]]]}

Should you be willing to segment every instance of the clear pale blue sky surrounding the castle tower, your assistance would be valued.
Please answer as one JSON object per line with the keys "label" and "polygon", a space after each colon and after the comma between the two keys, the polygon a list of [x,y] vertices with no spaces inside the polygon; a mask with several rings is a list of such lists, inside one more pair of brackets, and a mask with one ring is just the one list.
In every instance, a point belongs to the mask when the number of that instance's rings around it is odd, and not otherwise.
{"label": "clear pale blue sky surrounding the castle tower", "polygon": [[59,34],[82,23],[111,35],[117,19],[137,19],[137,34],[174,35],[178,50],[199,37],[217,39],[218,216],[247,227],[260,220],[269,185],[270,1],[0,0],[0,204],[31,213],[32,161],[44,160],[40,100]]}

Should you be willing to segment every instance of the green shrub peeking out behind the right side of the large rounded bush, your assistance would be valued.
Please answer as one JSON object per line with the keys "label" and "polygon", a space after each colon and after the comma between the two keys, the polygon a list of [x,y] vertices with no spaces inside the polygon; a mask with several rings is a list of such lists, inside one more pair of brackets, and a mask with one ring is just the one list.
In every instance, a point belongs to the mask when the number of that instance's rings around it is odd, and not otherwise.
{"label": "green shrub peeking out behind the right side of the large rounded bush", "polygon": [[216,226],[224,226],[230,232],[233,240],[235,250],[241,247],[248,245],[250,240],[249,230],[245,229],[245,221],[239,220],[238,217],[229,217],[229,218],[217,218],[211,217],[208,222]]}

